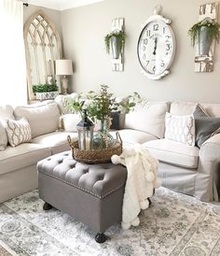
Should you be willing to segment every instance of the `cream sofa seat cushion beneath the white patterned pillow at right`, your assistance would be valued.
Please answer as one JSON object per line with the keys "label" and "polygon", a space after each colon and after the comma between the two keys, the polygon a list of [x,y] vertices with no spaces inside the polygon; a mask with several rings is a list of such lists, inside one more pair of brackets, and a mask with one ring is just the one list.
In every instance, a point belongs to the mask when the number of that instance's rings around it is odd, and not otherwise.
{"label": "cream sofa seat cushion beneath the white patterned pillow at right", "polygon": [[198,167],[199,148],[197,147],[166,138],[146,142],[143,146],[161,162],[187,168]]}

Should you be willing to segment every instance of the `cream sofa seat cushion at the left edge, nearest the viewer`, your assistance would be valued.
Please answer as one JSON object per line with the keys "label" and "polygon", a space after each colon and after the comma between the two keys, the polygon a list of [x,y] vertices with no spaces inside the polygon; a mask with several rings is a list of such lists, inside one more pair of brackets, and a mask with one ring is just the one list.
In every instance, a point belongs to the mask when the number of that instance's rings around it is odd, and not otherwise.
{"label": "cream sofa seat cushion at the left edge, nearest the viewer", "polygon": [[0,175],[12,172],[51,155],[51,149],[34,143],[23,143],[15,148],[7,147],[0,152]]}

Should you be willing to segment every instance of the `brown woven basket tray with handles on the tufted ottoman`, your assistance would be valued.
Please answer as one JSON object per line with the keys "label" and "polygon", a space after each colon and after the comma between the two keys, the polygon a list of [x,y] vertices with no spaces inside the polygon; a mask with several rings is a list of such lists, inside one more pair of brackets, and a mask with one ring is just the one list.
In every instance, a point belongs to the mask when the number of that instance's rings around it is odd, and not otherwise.
{"label": "brown woven basket tray with handles on the tufted ottoman", "polygon": [[85,164],[99,164],[111,162],[111,157],[113,155],[120,155],[122,153],[122,140],[117,132],[117,139],[114,140],[114,143],[111,148],[107,149],[89,149],[82,150],[78,149],[78,141],[71,141],[70,135],[67,136],[67,141],[72,149],[73,158]]}

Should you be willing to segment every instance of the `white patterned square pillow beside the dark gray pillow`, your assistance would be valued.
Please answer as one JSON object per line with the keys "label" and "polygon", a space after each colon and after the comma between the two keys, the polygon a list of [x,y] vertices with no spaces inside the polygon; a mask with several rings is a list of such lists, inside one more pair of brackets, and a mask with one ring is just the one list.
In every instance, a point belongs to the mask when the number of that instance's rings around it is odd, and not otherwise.
{"label": "white patterned square pillow beside the dark gray pillow", "polygon": [[195,120],[193,115],[177,116],[166,113],[165,138],[195,146]]}

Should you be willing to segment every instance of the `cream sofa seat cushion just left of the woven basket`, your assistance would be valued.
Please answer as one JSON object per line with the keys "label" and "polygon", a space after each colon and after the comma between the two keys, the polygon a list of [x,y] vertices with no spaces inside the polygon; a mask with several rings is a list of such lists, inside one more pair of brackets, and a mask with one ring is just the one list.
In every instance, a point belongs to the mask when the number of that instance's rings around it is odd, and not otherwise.
{"label": "cream sofa seat cushion just left of the woven basket", "polygon": [[36,144],[50,148],[52,154],[56,154],[70,149],[67,142],[67,135],[70,135],[72,140],[77,138],[77,133],[54,132],[34,137],[32,141]]}

